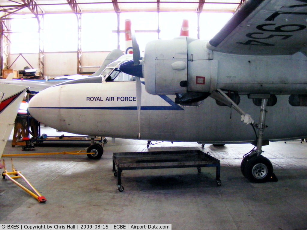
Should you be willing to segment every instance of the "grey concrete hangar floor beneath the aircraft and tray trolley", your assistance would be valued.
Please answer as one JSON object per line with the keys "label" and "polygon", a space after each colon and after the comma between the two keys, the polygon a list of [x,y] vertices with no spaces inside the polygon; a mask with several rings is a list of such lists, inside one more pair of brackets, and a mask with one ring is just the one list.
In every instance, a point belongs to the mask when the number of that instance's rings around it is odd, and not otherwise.
{"label": "grey concrete hangar floor beneath the aircraft and tray trolley", "polygon": [[[270,143],[264,156],[278,182],[248,182],[240,171],[251,144],[214,147],[197,143],[108,139],[100,160],[86,155],[14,157],[17,170],[46,197],[39,203],[8,179],[0,180],[0,223],[172,224],[173,230],[307,229],[307,143]],[[36,152],[73,151],[89,144],[43,143]],[[221,181],[215,168],[123,171],[119,192],[112,169],[113,152],[200,149],[220,159]],[[25,153],[8,141],[3,154]],[[10,158],[6,157],[10,170]],[[17,179],[21,181],[21,179]]]}

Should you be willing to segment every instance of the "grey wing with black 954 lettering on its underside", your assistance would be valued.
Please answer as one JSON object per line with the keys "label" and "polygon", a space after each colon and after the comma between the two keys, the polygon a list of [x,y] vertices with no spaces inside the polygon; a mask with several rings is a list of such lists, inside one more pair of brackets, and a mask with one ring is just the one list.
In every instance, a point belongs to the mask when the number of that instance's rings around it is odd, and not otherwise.
{"label": "grey wing with black 954 lettering on its underside", "polygon": [[208,42],[213,51],[307,56],[307,0],[246,0]]}

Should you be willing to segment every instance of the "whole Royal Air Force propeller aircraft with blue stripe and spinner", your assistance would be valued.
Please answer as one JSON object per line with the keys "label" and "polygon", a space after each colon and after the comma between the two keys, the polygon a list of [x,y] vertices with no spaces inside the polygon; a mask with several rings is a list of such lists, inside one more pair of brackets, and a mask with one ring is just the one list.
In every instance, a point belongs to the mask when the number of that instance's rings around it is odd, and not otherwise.
{"label": "whole Royal Air Force propeller aircraft with blue stripe and spinner", "polygon": [[[133,60],[122,56],[100,76],[43,90],[29,112],[50,127],[89,136],[254,142],[241,171],[266,182],[274,174],[262,145],[307,136],[305,3],[246,0],[210,41],[154,40],[143,58],[132,34]],[[103,149],[93,144],[88,152],[100,158]]]}

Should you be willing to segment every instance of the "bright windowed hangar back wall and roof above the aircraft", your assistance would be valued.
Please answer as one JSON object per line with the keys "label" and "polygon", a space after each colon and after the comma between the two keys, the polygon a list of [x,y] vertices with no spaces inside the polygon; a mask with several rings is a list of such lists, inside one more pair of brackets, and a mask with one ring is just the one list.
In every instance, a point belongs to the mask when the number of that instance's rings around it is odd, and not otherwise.
{"label": "bright windowed hangar back wall and roof above the aircraft", "polygon": [[131,19],[141,43],[173,39],[183,19],[189,20],[190,36],[209,39],[212,27],[202,27],[221,18],[214,26],[223,26],[240,2],[4,0],[1,71],[29,66],[39,68],[41,77],[95,72],[111,50],[125,49],[125,19]]}

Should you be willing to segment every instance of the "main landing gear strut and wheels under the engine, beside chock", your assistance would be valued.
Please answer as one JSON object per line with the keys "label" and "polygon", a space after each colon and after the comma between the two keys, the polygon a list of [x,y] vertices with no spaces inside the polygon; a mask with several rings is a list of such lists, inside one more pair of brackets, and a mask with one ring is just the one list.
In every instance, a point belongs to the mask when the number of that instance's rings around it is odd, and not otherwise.
{"label": "main landing gear strut and wheels under the engine, beside chock", "polygon": [[262,98],[260,110],[260,124],[258,125],[257,148],[243,157],[241,162],[241,172],[250,182],[262,183],[268,181],[277,181],[273,173],[273,166],[269,159],[262,156],[263,132],[266,119],[266,104],[268,98]]}

